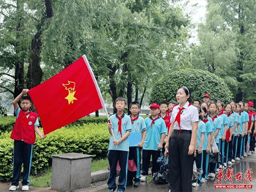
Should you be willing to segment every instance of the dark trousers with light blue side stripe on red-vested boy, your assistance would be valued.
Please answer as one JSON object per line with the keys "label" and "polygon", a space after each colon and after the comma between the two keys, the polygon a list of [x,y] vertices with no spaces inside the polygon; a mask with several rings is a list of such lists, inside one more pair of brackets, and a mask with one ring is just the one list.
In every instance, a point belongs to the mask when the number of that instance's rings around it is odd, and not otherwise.
{"label": "dark trousers with light blue side stripe on red-vested boy", "polygon": [[23,178],[21,184],[23,186],[29,185],[29,173],[31,169],[32,153],[33,145],[25,143],[24,141],[14,140],[12,185],[19,185],[22,164]]}

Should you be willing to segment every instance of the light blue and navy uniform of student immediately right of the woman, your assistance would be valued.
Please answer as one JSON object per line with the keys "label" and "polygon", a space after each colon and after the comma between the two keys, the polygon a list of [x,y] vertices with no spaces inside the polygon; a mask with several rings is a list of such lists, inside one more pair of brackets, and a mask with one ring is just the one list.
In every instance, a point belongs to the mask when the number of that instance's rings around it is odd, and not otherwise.
{"label": "light blue and navy uniform of student immediately right of the woman", "polygon": [[[204,134],[204,136],[206,135],[206,128],[205,128],[205,124],[203,121],[199,120],[198,122],[198,130],[197,130],[197,144],[196,144],[196,157],[194,157],[195,160],[195,164],[197,169],[202,169],[202,165],[203,165],[203,153],[198,154],[198,149],[200,147],[201,144],[201,137],[202,134]],[[203,151],[203,146],[202,146],[202,151]],[[196,182],[196,178],[193,178],[192,183]],[[201,182],[201,177],[198,177],[198,184],[201,186],[202,182]]]}

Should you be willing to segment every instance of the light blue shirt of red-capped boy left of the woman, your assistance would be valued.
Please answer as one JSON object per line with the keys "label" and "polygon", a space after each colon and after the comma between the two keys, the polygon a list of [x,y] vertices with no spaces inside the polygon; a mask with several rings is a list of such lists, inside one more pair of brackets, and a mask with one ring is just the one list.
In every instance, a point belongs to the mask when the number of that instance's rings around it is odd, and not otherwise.
{"label": "light blue shirt of red-capped boy left of the woman", "polygon": [[158,145],[160,144],[162,134],[166,134],[166,125],[162,118],[158,116],[158,119],[154,121],[151,127],[152,120],[150,117],[145,119],[145,124],[147,128],[145,142],[143,144],[143,149],[145,150],[155,150],[158,151]]}

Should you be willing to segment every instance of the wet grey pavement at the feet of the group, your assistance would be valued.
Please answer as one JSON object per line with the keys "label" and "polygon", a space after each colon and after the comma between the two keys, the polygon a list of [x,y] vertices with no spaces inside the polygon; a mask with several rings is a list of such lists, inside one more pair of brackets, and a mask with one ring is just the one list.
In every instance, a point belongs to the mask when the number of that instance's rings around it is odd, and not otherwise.
{"label": "wet grey pavement at the feet of the group", "polygon": [[[251,156],[245,157],[243,160],[236,161],[232,164],[232,166],[227,167],[227,169],[224,169],[223,175],[224,178],[222,179],[221,184],[230,184],[229,180],[227,179],[224,181],[226,177],[226,173],[228,169],[233,168],[233,175],[238,174],[239,172],[242,173],[242,180],[236,181],[235,177],[232,177],[233,184],[243,184],[244,181],[244,173],[251,168],[252,173],[250,176],[252,177],[252,182],[246,181],[245,184],[252,184],[253,189],[215,189],[214,183],[215,180],[218,179],[218,177],[212,178],[207,180],[206,183],[203,183],[200,187],[192,187],[192,192],[255,192],[256,191],[256,153],[252,154]],[[218,176],[218,173],[216,174]],[[87,189],[87,190],[81,190],[81,192],[108,192],[107,185],[104,184],[100,187],[95,187],[94,189]],[[126,189],[127,192],[168,192],[169,191],[169,185],[158,185],[155,183],[146,183],[141,182],[140,187],[133,187],[133,186],[127,186]]]}

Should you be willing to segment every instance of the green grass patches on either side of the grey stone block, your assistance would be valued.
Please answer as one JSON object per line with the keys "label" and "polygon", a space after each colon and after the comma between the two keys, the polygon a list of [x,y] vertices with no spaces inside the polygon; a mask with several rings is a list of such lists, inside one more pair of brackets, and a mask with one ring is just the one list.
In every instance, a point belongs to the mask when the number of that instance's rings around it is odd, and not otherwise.
{"label": "green grass patches on either side of the grey stone block", "polygon": [[[93,160],[91,172],[106,170],[108,167],[108,159]],[[30,185],[34,187],[49,187],[52,182],[52,169],[47,169],[43,174],[30,177]]]}

